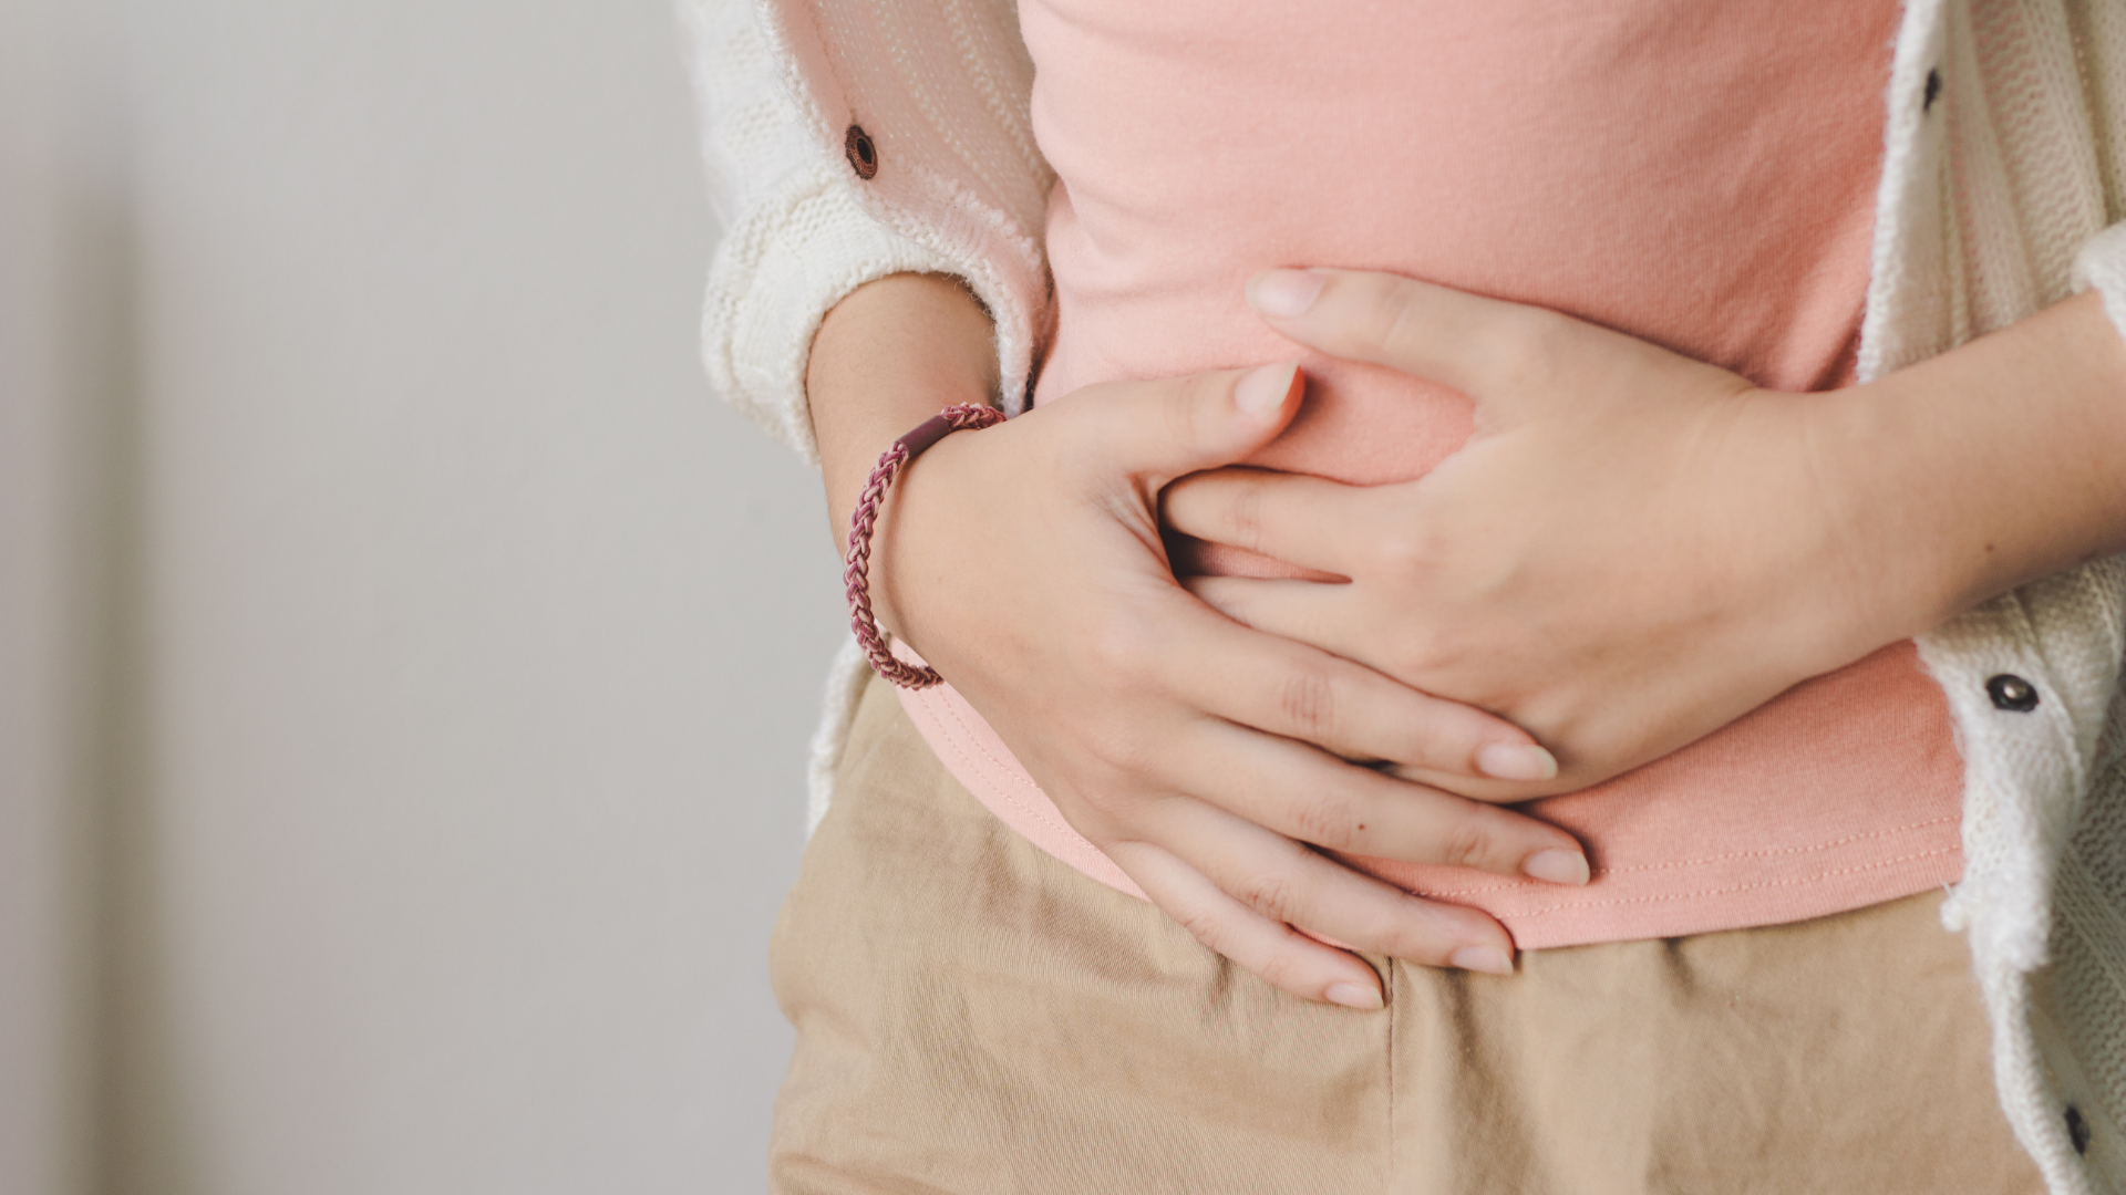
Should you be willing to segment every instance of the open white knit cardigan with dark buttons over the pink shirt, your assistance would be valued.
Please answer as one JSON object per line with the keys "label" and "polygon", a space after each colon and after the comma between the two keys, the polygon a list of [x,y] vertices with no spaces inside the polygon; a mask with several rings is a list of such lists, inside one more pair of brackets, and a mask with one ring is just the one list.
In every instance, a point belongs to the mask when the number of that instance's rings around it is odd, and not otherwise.
{"label": "open white knit cardigan with dark buttons over the pink shirt", "polygon": [[[1048,315],[1052,174],[1012,0],[680,0],[680,15],[723,221],[702,325],[723,395],[816,459],[804,366],[821,317],[916,270],[989,306],[1016,413]],[[2126,330],[2126,0],[1907,0],[1888,115],[1862,381],[2092,285]],[[853,128],[874,145],[867,179]],[[1967,776],[1945,921],[1969,933],[2001,1104],[2058,1195],[2126,1195],[2122,615],[2126,557],[1920,642]],[[859,674],[844,651],[814,821]],[[2035,685],[2037,708],[1996,708],[1998,676]]]}

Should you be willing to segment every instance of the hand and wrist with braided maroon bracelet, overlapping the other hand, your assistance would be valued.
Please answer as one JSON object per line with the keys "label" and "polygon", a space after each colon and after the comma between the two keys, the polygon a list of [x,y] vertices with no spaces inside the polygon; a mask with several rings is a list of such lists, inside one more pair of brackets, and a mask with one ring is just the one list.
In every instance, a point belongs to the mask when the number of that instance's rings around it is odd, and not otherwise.
{"label": "hand and wrist with braided maroon bracelet, overlapping the other hand", "polygon": [[[846,515],[878,453],[986,398],[989,319],[952,281],[861,287],[821,327],[808,393]],[[1524,731],[1229,621],[1167,566],[1169,481],[1246,459],[1290,421],[1295,366],[1097,385],[946,436],[895,483],[872,604],[995,727],[1063,817],[1205,946],[1307,999],[1382,1004],[1307,933],[1427,965],[1512,970],[1484,912],[1314,851],[1586,882],[1580,844],[1524,814],[1390,778],[1533,780]]]}

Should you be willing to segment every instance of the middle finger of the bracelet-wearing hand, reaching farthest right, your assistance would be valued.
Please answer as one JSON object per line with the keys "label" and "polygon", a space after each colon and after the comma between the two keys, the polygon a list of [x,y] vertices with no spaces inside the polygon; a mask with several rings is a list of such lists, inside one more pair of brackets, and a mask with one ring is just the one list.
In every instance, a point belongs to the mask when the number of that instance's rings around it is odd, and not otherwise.
{"label": "middle finger of the bracelet-wearing hand, reaching farthest right", "polygon": [[[1195,755],[1222,763],[1214,782],[1193,785],[1208,804],[1350,855],[1475,868],[1584,885],[1580,842],[1529,814],[1382,776],[1320,748],[1248,727],[1203,721],[1184,731]],[[1186,808],[1186,802],[1165,808]]]}

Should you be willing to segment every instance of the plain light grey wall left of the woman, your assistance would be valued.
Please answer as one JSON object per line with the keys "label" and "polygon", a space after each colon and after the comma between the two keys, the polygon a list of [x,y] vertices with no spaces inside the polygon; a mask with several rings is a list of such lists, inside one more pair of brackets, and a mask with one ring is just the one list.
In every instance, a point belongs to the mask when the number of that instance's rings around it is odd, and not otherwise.
{"label": "plain light grey wall left of the woman", "polygon": [[77,1048],[0,1193],[759,1191],[840,595],[695,359],[670,9],[15,4],[111,151],[47,187],[94,368],[6,400],[89,413],[11,634],[91,629],[70,727],[13,725],[85,746],[4,795],[66,861],[11,916],[74,946],[0,1048]]}

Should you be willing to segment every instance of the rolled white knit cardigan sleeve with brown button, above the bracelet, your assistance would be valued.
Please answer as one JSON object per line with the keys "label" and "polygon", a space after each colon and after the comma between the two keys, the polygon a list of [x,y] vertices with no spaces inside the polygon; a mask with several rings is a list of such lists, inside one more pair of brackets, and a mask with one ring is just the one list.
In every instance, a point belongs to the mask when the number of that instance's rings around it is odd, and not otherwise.
{"label": "rolled white knit cardigan sleeve with brown button, above the bracelet", "polygon": [[[702,310],[710,383],[816,464],[804,374],[821,319],[874,279],[952,274],[995,319],[999,402],[1016,410],[1046,315],[1050,174],[1027,128],[1031,64],[1012,2],[678,11],[721,223]],[[876,179],[859,181],[842,153],[857,119],[887,159],[872,159]]]}

